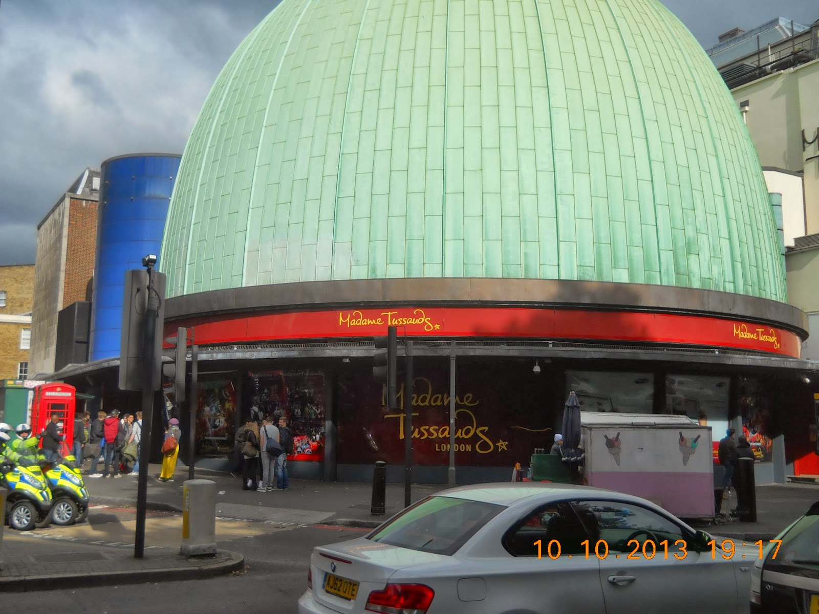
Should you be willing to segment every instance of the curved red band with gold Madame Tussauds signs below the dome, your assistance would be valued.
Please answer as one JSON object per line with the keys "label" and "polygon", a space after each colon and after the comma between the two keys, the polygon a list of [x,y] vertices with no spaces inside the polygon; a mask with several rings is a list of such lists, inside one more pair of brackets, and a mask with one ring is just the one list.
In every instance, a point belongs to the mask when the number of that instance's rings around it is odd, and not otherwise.
{"label": "curved red band with gold Madame Tussauds signs below the dome", "polygon": [[390,307],[336,309],[288,314],[195,318],[179,324],[196,327],[198,345],[333,339],[399,334],[429,337],[531,337],[590,341],[674,343],[708,348],[739,348],[799,358],[802,341],[794,332],[767,324],[695,315],[632,311],[505,307]]}

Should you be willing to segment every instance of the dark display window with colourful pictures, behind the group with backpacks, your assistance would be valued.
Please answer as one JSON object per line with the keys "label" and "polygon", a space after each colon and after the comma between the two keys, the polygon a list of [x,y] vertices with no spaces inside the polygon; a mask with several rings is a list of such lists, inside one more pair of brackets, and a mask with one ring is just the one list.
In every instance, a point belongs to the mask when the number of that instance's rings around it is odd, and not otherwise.
{"label": "dark display window with colourful pictures, behind the group with backpacks", "polygon": [[272,416],[287,418],[293,435],[297,461],[324,460],[325,391],[324,373],[310,371],[265,371],[248,373],[250,416],[254,420]]}

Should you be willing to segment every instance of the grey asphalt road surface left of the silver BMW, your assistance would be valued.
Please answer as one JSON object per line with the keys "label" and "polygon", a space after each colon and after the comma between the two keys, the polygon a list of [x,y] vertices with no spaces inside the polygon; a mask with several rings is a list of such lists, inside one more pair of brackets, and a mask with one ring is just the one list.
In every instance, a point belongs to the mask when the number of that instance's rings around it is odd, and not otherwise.
{"label": "grey asphalt road surface left of the silver BMW", "polygon": [[[154,513],[146,525],[146,544],[179,547],[179,515]],[[87,526],[57,529],[77,541],[100,548],[133,544],[133,510],[92,510]],[[52,529],[49,529],[52,530]],[[351,540],[365,530],[283,527],[255,521],[219,521],[219,548],[244,554],[245,571],[210,580],[106,586],[93,589],[44,590],[8,595],[21,611],[43,614],[288,614],[307,588],[307,569],[314,546]],[[227,539],[223,539],[227,538]],[[6,602],[7,598],[2,598]],[[0,603],[2,603],[0,602]],[[0,607],[5,611],[5,607]]]}

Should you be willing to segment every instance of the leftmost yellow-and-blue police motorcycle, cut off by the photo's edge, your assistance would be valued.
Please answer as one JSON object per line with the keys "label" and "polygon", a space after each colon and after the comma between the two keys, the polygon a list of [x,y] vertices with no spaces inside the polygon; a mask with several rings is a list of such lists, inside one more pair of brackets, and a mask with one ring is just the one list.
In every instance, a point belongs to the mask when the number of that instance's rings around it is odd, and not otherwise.
{"label": "leftmost yellow-and-blue police motorcycle, cut off by the photo's edge", "polygon": [[17,464],[20,460],[8,446],[11,438],[0,431],[0,486],[5,486],[7,513],[4,522],[16,530],[32,530],[48,526],[52,510],[52,495],[40,467],[37,471]]}

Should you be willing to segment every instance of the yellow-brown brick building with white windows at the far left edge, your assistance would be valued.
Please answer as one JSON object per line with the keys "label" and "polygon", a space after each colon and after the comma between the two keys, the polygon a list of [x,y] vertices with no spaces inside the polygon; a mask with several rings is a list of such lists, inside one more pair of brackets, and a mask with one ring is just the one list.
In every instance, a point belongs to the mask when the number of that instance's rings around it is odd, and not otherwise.
{"label": "yellow-brown brick building with white windows at the far left edge", "polygon": [[0,380],[27,379],[34,264],[0,266]]}

